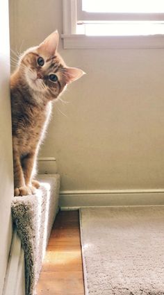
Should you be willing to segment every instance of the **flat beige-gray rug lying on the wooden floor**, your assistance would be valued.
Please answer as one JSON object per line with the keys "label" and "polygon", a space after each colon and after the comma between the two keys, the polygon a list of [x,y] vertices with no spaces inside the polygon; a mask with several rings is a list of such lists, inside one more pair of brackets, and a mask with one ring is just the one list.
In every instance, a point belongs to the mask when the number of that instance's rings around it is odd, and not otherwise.
{"label": "flat beige-gray rug lying on the wooden floor", "polygon": [[80,210],[85,295],[164,294],[164,207]]}

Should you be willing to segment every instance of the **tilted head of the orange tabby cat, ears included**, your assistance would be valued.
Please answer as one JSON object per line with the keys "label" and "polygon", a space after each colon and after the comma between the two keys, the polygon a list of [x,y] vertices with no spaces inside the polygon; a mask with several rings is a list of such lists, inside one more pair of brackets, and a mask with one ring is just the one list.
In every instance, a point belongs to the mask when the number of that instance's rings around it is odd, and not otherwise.
{"label": "tilted head of the orange tabby cat, ears included", "polygon": [[19,59],[19,71],[33,91],[56,99],[65,86],[85,74],[67,67],[58,54],[58,32],[51,33],[38,47],[26,50]]}

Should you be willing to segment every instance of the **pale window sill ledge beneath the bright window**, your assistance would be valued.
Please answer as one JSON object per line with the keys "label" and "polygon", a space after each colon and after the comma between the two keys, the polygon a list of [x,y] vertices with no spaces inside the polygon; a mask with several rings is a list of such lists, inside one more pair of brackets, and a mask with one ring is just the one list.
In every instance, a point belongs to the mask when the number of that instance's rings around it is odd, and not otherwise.
{"label": "pale window sill ledge beneath the bright window", "polygon": [[64,49],[164,49],[164,35],[62,35]]}

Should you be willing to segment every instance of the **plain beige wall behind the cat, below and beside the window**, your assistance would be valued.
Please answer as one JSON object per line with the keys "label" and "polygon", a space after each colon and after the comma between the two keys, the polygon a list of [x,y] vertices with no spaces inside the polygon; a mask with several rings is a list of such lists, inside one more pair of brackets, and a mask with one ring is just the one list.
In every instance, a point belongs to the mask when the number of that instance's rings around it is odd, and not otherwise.
{"label": "plain beige wall behind the cat, below and beside the window", "polygon": [[[63,33],[61,0],[11,2],[13,49]],[[56,104],[42,146],[42,156],[56,157],[61,189],[164,187],[164,49],[60,43],[60,53],[87,73],[63,95],[69,103]]]}

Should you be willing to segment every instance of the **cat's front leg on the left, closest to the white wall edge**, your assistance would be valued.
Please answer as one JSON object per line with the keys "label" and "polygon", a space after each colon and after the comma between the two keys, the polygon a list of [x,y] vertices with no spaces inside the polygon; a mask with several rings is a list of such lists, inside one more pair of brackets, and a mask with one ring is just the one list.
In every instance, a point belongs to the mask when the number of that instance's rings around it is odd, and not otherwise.
{"label": "cat's front leg on the left, closest to the white wall edge", "polygon": [[22,171],[22,165],[19,157],[19,153],[13,150],[13,168],[14,168],[14,187],[15,196],[26,196],[31,194],[31,189],[26,187],[24,174]]}

